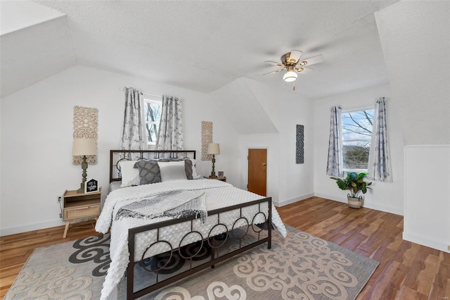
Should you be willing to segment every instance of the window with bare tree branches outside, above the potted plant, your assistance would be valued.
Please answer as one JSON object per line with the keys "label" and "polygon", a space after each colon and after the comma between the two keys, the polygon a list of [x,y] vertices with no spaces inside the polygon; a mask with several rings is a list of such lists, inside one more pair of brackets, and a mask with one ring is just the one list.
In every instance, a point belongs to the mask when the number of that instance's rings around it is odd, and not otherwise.
{"label": "window with bare tree branches outside, above the potted plant", "polygon": [[344,170],[368,170],[373,108],[342,111],[342,160]]}

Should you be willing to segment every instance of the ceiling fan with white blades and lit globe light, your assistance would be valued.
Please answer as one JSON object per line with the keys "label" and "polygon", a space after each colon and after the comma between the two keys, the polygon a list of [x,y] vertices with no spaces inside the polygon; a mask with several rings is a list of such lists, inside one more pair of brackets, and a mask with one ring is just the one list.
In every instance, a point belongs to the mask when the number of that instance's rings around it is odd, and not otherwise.
{"label": "ceiling fan with white blades and lit globe light", "polygon": [[[314,65],[316,63],[321,63],[323,61],[322,54],[300,60],[302,54],[303,54],[302,51],[292,50],[287,54],[281,56],[281,63],[277,63],[276,61],[264,61],[264,63],[270,63],[272,65],[277,65],[278,67],[281,67],[281,69],[265,73],[264,75],[271,73],[280,73],[283,70],[287,70],[285,75],[283,75],[283,80],[285,82],[295,82],[295,80],[297,80],[297,73],[302,74],[308,73],[310,70],[314,70],[308,68],[309,65]],[[293,89],[295,89],[295,83]]]}

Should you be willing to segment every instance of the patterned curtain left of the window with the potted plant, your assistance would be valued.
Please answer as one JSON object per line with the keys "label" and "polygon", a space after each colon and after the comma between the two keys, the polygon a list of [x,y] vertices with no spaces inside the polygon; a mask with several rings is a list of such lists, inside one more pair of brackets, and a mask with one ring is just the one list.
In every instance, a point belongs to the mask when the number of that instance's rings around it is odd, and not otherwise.
{"label": "patterned curtain left of the window with the potted plant", "polygon": [[342,177],[342,142],[341,142],[341,113],[340,106],[330,109],[330,142],[328,143],[328,163],[326,173],[331,176]]}

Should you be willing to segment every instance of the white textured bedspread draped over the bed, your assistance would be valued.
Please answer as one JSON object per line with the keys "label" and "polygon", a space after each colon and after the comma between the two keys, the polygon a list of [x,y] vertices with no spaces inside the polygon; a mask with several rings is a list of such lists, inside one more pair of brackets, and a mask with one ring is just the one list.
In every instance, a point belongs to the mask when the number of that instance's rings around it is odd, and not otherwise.
{"label": "white textured bedspread draped over the bed", "polygon": [[[219,180],[179,180],[172,182],[160,182],[153,185],[139,185],[137,187],[125,187],[122,189],[116,189],[111,192],[107,199],[105,200],[105,205],[101,212],[100,217],[96,223],[96,231],[106,233],[111,228],[111,241],[110,241],[110,268],[108,274],[105,277],[105,282],[103,282],[103,289],[101,291],[101,299],[108,299],[108,296],[113,291],[115,286],[120,282],[125,270],[127,269],[127,264],[129,262],[129,251],[128,251],[128,229],[131,227],[138,227],[141,225],[146,225],[150,223],[158,223],[162,220],[169,220],[170,218],[156,218],[152,220],[144,220],[140,218],[124,218],[122,220],[115,220],[113,218],[117,211],[124,205],[131,204],[140,199],[144,199],[150,195],[160,194],[162,192],[172,191],[174,189],[179,190],[205,190],[205,199],[207,210],[211,211],[217,208],[224,208],[227,206],[232,206],[235,204],[243,204],[245,202],[263,199],[263,196],[253,194],[243,189],[238,189],[233,187],[229,183],[221,182]],[[255,211],[244,211],[244,214],[248,214],[250,220],[252,220],[252,213]],[[226,214],[224,218],[221,217],[221,223],[233,224],[236,220],[236,215],[229,214],[230,220],[226,220]],[[224,220],[225,219],[225,220]],[[214,220],[211,220],[214,222]],[[206,222],[206,225],[212,224],[211,222]],[[276,229],[283,235],[286,236],[286,230],[283,222],[281,221],[278,211],[276,211],[275,206],[272,205],[272,223],[275,225]],[[189,227],[186,223],[171,225],[171,227],[161,230],[160,236],[167,239],[173,238],[174,240],[179,240],[183,235],[185,235],[185,227]],[[208,230],[210,227],[200,224],[200,220],[195,223],[195,230],[205,233],[208,235]],[[228,225],[227,225],[228,226]],[[205,227],[203,229],[203,227]],[[187,229],[190,230],[190,229]],[[155,238],[155,235],[149,235],[146,233],[145,236],[139,235],[136,237],[139,240],[139,245],[136,245],[135,257],[141,257],[143,252],[146,251],[146,246],[149,242]],[[195,242],[195,240],[184,239],[184,244],[189,244]],[[151,242],[150,242],[151,243]],[[167,249],[158,249],[158,246],[152,247],[153,252],[146,252],[146,256],[152,256]]]}

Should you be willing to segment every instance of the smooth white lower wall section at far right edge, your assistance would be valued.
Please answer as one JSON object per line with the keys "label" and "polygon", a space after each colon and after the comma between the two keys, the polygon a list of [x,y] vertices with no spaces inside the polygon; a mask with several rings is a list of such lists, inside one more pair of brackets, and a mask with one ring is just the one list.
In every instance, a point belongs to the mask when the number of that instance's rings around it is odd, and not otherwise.
{"label": "smooth white lower wall section at far right edge", "polygon": [[403,238],[450,253],[450,145],[405,147]]}

